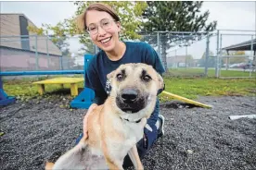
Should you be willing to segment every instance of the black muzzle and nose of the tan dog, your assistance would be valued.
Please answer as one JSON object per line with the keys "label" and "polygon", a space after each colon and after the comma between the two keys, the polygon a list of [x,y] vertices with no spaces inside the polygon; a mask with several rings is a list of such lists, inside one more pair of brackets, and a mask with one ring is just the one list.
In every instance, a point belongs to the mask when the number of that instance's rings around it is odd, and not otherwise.
{"label": "black muzzle and nose of the tan dog", "polygon": [[127,113],[137,113],[142,110],[147,101],[147,96],[140,95],[140,92],[134,89],[124,89],[117,96],[117,106]]}

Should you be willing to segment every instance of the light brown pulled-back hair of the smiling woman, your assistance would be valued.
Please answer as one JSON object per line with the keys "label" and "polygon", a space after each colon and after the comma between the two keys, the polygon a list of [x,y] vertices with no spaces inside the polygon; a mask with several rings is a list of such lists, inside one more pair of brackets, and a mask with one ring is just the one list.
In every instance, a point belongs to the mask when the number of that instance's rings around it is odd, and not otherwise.
{"label": "light brown pulled-back hair of the smiling woman", "polygon": [[90,6],[88,6],[83,11],[83,13],[76,18],[76,25],[80,31],[84,31],[87,29],[86,15],[87,15],[87,12],[90,10],[107,12],[116,21],[120,21],[120,18],[118,17],[117,13],[110,6],[108,6],[106,4],[102,4],[102,3],[94,3],[94,4],[91,4]]}

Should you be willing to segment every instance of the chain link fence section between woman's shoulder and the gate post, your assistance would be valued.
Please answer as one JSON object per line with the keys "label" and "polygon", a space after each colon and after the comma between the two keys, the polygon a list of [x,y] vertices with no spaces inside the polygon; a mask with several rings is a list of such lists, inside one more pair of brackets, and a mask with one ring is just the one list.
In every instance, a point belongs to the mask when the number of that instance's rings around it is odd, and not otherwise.
{"label": "chain link fence section between woman's shoulder and the gate post", "polygon": [[198,77],[206,74],[209,38],[206,32],[160,31],[143,35],[142,41],[158,52],[168,76]]}

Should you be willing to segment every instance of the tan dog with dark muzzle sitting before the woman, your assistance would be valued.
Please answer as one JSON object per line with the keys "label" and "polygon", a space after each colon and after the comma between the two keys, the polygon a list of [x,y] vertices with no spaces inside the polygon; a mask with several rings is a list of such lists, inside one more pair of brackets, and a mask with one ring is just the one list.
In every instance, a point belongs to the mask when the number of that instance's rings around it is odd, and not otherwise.
{"label": "tan dog with dark muzzle sitting before the woman", "polygon": [[88,116],[88,138],[82,139],[56,164],[45,169],[122,169],[129,154],[143,169],[136,143],[143,138],[147,118],[154,111],[163,79],[146,64],[126,64],[108,75],[111,91],[106,102]]}

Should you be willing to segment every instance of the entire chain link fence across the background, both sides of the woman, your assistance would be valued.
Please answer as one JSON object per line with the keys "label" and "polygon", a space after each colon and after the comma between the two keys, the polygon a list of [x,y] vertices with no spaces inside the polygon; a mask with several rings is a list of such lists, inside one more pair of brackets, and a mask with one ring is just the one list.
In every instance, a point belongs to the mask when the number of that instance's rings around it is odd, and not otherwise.
{"label": "entire chain link fence across the background, both sides of the woman", "polygon": [[[82,35],[1,36],[0,70],[82,70],[84,55],[95,55],[97,48],[89,39],[83,39],[81,42],[80,36]],[[239,42],[253,42],[255,38],[255,32],[242,34],[230,33],[230,31],[224,33],[218,30],[208,34],[206,32],[160,31],[141,34],[141,39],[136,41],[147,42],[156,50],[169,76],[219,78],[226,75],[225,71],[231,70],[240,71],[241,74],[247,72],[248,74],[244,77],[253,75],[255,71],[255,67],[253,69],[253,65],[255,66],[253,44],[252,50],[249,51],[228,50],[227,53],[225,47]],[[250,64],[251,69],[242,67],[242,64],[243,66]]]}

